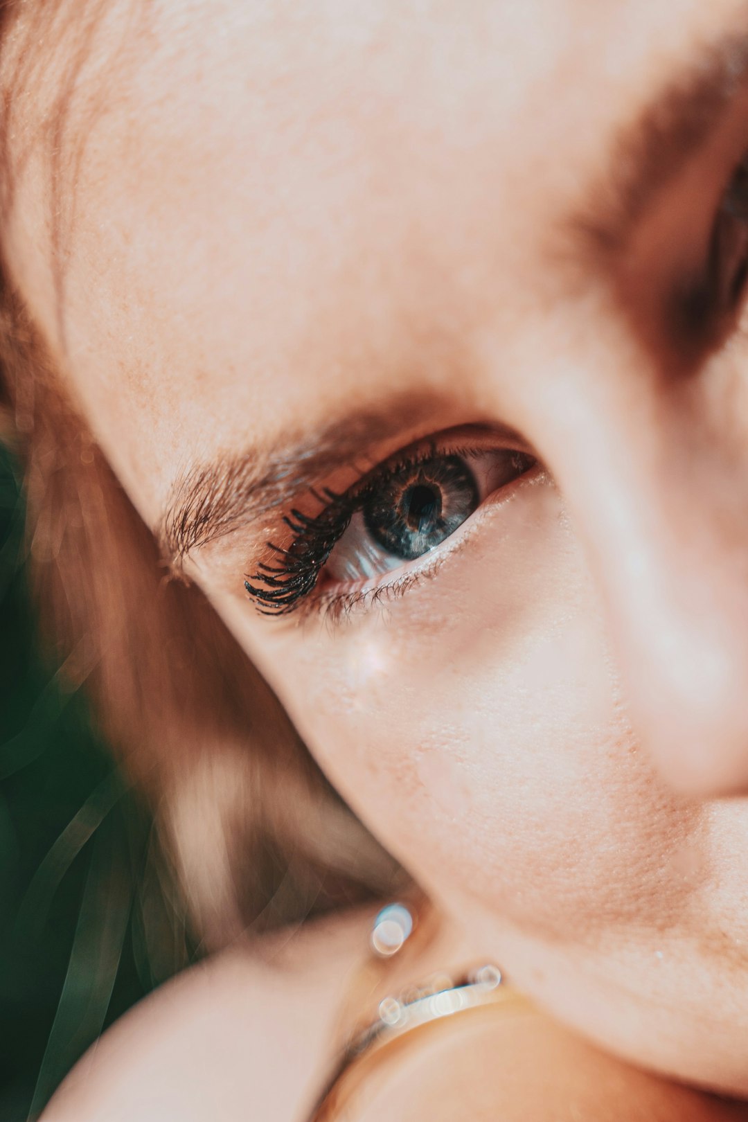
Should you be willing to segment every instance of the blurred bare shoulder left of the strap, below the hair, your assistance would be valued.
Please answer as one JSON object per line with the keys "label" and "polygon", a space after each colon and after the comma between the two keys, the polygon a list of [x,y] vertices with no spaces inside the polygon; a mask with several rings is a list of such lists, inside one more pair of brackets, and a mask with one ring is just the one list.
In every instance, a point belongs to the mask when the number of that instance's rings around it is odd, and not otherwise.
{"label": "blurred bare shoulder left of the strap, below the hair", "polygon": [[104,1033],[43,1122],[296,1122],[330,1061],[368,922],[318,921],[186,971]]}

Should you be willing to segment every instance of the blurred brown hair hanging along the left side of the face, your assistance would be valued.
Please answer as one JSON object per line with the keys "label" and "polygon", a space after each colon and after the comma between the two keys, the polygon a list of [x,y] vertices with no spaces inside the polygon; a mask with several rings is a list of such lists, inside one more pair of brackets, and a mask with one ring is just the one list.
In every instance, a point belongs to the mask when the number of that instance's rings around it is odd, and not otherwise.
{"label": "blurred brown hair hanging along the left side of the face", "polygon": [[[11,9],[0,9],[0,21]],[[11,192],[8,172],[6,214]],[[215,947],[248,927],[390,891],[395,863],[326,782],[202,592],[169,579],[6,267],[0,422],[25,466],[28,569],[44,634],[146,792],[201,938]]]}

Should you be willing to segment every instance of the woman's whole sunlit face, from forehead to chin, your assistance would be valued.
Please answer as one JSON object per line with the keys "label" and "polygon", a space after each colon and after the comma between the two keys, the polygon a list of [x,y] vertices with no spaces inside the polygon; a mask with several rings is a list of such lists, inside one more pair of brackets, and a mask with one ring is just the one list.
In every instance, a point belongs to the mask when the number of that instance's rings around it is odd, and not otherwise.
{"label": "woman's whole sunlit face, from forehead to chin", "polygon": [[135,504],[520,984],[748,1093],[745,2],[95,8],[7,241]]}

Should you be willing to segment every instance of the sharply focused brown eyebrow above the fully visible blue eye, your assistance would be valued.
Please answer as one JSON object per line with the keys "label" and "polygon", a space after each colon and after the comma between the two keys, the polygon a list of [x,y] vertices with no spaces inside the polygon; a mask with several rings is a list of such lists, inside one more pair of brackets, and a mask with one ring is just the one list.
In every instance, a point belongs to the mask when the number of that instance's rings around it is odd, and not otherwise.
{"label": "sharply focused brown eyebrow above the fully visible blue eye", "polygon": [[368,450],[393,438],[396,419],[412,432],[433,422],[443,404],[433,390],[398,394],[273,449],[248,449],[191,468],[174,484],[157,532],[164,554],[179,567],[187,554],[239,526],[287,509],[341,465],[363,461],[361,473],[370,470],[376,463]]}

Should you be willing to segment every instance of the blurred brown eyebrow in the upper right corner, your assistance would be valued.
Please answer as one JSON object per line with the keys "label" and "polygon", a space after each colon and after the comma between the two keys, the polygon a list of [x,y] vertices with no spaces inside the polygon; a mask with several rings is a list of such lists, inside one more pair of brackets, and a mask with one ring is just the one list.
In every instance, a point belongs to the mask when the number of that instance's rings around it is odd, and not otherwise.
{"label": "blurred brown eyebrow in the upper right corner", "polygon": [[607,263],[625,249],[659,194],[700,154],[746,86],[748,4],[744,24],[703,45],[637,119],[613,136],[606,171],[565,223],[593,256]]}

